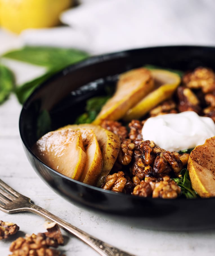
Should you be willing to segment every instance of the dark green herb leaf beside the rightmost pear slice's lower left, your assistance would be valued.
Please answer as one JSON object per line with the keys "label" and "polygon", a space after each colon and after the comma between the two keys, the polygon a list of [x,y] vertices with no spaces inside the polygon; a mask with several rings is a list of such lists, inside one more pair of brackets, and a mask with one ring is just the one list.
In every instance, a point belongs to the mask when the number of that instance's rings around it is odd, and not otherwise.
{"label": "dark green herb leaf beside the rightmost pear slice's lower left", "polygon": [[192,199],[197,198],[198,194],[191,187],[191,181],[189,176],[189,171],[187,169],[182,169],[180,176],[177,178],[172,178],[178,186],[181,188],[182,195],[186,198]]}

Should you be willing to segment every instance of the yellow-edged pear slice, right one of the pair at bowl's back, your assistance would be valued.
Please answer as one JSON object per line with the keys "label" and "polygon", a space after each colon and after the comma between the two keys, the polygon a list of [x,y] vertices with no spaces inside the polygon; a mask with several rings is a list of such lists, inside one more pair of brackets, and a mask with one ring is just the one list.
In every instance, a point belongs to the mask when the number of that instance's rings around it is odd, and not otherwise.
{"label": "yellow-edged pear slice, right one of the pair at bowl's back", "polygon": [[151,74],[154,79],[154,91],[127,111],[123,117],[125,121],[141,118],[159,103],[170,98],[181,82],[178,74],[167,70],[154,69],[151,70]]}

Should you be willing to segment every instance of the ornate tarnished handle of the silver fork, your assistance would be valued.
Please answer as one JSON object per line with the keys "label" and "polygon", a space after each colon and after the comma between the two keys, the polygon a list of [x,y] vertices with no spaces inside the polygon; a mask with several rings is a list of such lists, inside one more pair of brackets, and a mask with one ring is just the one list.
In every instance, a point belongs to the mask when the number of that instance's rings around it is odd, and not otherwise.
{"label": "ornate tarnished handle of the silver fork", "polygon": [[68,222],[58,218],[53,215],[49,211],[37,206],[35,204],[30,203],[29,207],[25,208],[26,211],[30,211],[36,213],[42,217],[48,218],[49,220],[56,222],[59,226],[61,226],[66,231],[69,231],[71,234],[75,235],[77,238],[88,244],[94,250],[96,250],[102,256],[134,256],[133,254],[129,254],[125,251],[122,251],[116,247],[113,247],[89,234],[76,228],[69,224]]}

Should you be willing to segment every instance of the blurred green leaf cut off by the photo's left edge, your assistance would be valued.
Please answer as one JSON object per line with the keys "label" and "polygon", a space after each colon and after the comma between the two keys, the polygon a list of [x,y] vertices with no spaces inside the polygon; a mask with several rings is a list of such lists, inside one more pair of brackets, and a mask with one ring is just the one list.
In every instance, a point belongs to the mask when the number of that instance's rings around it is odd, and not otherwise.
{"label": "blurred green leaf cut off by the photo's left edge", "polygon": [[0,104],[14,89],[14,75],[7,67],[0,65]]}

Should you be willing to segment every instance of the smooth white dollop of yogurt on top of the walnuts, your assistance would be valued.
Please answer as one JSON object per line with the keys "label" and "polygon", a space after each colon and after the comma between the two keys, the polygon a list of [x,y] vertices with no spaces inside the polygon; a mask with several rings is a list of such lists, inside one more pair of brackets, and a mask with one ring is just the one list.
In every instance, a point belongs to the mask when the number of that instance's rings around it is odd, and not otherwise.
{"label": "smooth white dollop of yogurt on top of the walnuts", "polygon": [[202,145],[215,136],[215,124],[209,117],[193,111],[150,117],[142,128],[143,140],[168,151],[180,151]]}

